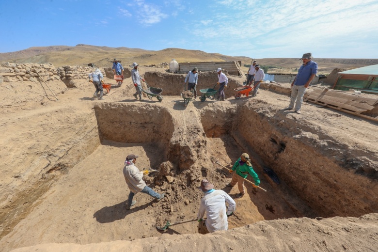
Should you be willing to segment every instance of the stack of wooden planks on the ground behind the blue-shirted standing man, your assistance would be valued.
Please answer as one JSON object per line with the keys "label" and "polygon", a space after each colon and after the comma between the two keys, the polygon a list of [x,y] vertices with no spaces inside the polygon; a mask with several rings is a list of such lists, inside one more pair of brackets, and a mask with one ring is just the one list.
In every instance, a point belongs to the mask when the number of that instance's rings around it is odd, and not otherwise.
{"label": "stack of wooden planks on the ground behind the blue-shirted standing man", "polygon": [[320,89],[311,92],[305,101],[378,121],[378,118],[361,114],[362,112],[373,110],[375,105],[378,104],[378,99],[343,94],[330,89]]}

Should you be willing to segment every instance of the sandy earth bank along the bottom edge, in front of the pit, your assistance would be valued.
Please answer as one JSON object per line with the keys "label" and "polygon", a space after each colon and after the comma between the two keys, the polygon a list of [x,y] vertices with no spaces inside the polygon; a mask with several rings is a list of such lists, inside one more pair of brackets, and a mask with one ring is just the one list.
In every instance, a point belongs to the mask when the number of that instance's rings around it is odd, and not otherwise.
{"label": "sandy earth bank along the bottom edge, in front of the pit", "polygon": [[377,251],[378,215],[361,218],[260,221],[208,235],[163,235],[97,244],[40,244],[13,252],[176,251]]}

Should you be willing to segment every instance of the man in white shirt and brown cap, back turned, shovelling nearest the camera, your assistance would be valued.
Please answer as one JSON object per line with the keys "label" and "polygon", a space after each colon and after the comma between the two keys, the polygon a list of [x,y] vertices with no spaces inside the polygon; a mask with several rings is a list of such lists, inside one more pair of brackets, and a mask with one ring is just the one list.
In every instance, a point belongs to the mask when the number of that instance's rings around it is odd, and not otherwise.
{"label": "man in white shirt and brown cap, back turned, shovelling nearest the camera", "polygon": [[[207,234],[215,231],[227,230],[227,217],[231,216],[236,207],[235,201],[223,190],[215,190],[214,185],[207,179],[201,181],[201,189],[205,196],[201,199],[200,209],[197,214],[198,219],[198,233]],[[228,207],[226,210],[226,204]],[[206,211],[206,220],[204,218]]]}

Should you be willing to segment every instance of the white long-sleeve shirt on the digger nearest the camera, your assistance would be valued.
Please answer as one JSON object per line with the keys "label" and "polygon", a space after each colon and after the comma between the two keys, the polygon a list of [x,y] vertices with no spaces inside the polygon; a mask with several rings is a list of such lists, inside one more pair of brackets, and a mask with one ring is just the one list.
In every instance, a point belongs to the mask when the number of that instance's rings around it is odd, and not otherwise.
{"label": "white long-sleeve shirt on the digger nearest the camera", "polygon": [[[228,203],[227,211],[225,202]],[[203,219],[206,210],[206,228],[210,233],[227,230],[227,215],[234,212],[235,207],[235,201],[223,190],[207,192],[201,200],[197,218]]]}

